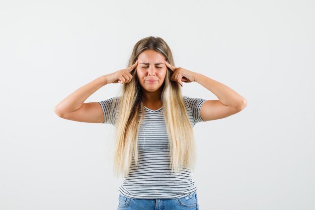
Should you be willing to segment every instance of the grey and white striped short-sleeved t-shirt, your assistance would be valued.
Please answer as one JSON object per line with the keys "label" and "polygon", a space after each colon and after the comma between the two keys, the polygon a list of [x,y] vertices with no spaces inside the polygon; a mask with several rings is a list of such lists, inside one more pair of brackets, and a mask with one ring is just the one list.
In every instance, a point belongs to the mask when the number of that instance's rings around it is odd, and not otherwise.
{"label": "grey and white striped short-sleeved t-shirt", "polygon": [[[116,125],[119,99],[113,97],[99,102],[104,112],[103,123]],[[206,100],[187,96],[183,96],[183,99],[192,126],[204,121],[200,117],[200,108]],[[109,117],[112,110],[115,113]],[[141,115],[141,110],[139,112]],[[157,110],[144,107],[144,115],[138,132],[139,167],[136,168],[132,160],[129,174],[123,178],[119,187],[120,193],[129,198],[174,199],[197,191],[190,169],[185,168],[180,174],[171,174],[169,139],[162,107]]]}

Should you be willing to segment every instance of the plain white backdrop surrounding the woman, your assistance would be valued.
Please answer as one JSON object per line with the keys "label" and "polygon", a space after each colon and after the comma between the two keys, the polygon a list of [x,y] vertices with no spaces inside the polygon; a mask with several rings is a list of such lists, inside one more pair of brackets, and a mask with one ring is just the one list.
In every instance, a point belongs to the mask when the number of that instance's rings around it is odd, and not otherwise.
{"label": "plain white backdrop surrounding the woman", "polygon": [[[314,209],[314,11],[313,1],[1,1],[0,209],[117,209],[114,126],[53,109],[127,67],[147,36],[248,101],[194,127],[200,209]],[[217,99],[198,83],[182,90]]]}

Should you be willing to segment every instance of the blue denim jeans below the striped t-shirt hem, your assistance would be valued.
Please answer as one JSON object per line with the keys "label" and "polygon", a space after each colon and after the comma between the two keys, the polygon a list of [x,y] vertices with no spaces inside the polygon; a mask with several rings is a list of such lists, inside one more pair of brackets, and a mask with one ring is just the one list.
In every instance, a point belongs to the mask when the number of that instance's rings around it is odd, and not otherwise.
{"label": "blue denim jeans below the striped t-shirt hem", "polygon": [[175,199],[135,199],[121,193],[117,210],[199,210],[197,192]]}

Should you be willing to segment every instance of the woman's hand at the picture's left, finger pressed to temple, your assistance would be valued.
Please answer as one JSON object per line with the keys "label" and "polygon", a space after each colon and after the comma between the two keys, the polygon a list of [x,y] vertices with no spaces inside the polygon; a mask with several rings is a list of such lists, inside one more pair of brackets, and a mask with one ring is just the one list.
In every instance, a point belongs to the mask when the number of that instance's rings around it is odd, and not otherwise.
{"label": "woman's hand at the picture's left, finger pressed to temple", "polygon": [[138,65],[138,59],[128,68],[124,68],[121,70],[118,70],[117,72],[111,73],[109,75],[106,75],[106,83],[129,83],[132,80],[132,75],[130,72],[137,67]]}

